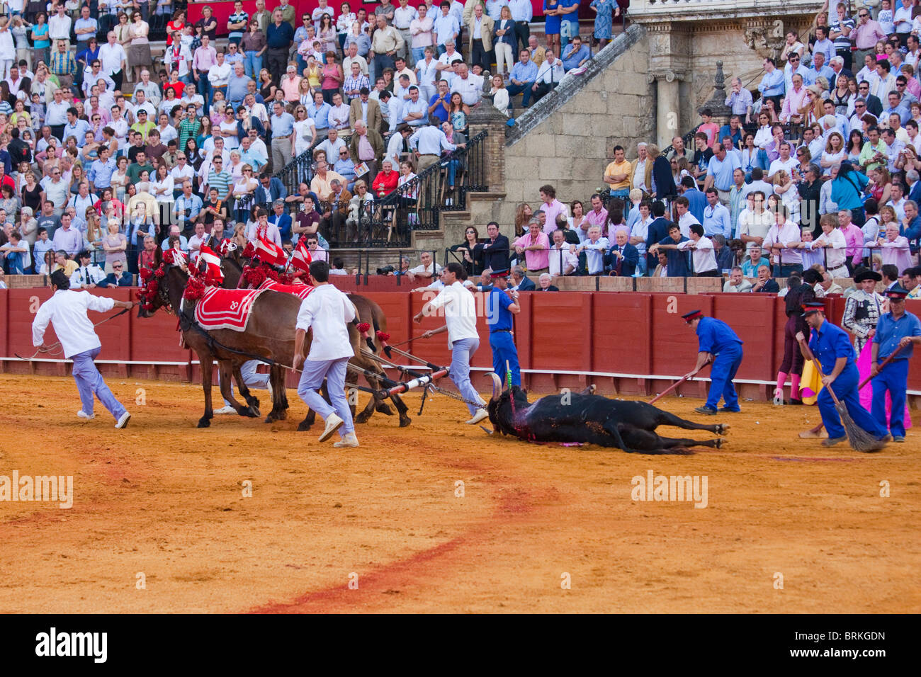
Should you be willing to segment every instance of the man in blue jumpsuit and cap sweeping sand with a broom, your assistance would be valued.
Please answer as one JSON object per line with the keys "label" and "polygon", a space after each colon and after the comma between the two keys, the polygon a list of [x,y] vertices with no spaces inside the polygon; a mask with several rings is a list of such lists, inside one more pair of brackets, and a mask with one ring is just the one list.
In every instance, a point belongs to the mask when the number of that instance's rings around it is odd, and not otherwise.
{"label": "man in blue jumpsuit and cap sweeping sand with a broom", "polygon": [[812,332],[808,345],[805,335],[797,333],[799,348],[806,359],[818,358],[825,386],[818,397],[822,424],[828,431],[828,438],[822,440],[822,446],[833,447],[848,439],[858,451],[882,449],[892,437],[860,405],[857,388],[860,375],[857,373],[854,346],[847,333],[825,321],[825,305],[821,301],[804,304],[803,312]]}

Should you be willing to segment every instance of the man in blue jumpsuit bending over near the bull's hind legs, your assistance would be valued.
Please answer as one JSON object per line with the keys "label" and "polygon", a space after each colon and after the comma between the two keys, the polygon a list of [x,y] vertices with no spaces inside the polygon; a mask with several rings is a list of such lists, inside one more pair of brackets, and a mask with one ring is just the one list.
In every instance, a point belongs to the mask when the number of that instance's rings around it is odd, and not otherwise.
{"label": "man in blue jumpsuit bending over near the bull's hind legs", "polygon": [[[713,367],[710,369],[710,391],[706,396],[706,403],[694,409],[698,414],[714,415],[717,413],[719,398],[723,398],[724,412],[740,412],[739,395],[732,379],[742,362],[742,341],[729,324],[716,318],[705,317],[700,310],[692,310],[682,315],[682,318],[697,333],[700,348],[697,353],[697,366],[694,371],[699,371],[713,358]],[[689,374],[690,376],[690,374]]]}

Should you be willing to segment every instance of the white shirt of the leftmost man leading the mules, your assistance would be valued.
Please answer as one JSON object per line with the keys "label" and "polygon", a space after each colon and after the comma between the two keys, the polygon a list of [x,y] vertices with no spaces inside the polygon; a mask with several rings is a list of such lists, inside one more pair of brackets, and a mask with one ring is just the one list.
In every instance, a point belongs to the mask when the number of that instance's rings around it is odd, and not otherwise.
{"label": "white shirt of the leftmost man leading the mules", "polygon": [[[93,323],[87,318],[87,310],[108,312],[115,307],[115,300],[94,297],[87,292],[58,289],[54,296],[41,304],[32,321],[32,345],[38,347],[44,339],[48,322],[54,326],[64,357],[73,357],[93,348],[101,348],[99,336]],[[345,342],[348,344],[348,341]]]}

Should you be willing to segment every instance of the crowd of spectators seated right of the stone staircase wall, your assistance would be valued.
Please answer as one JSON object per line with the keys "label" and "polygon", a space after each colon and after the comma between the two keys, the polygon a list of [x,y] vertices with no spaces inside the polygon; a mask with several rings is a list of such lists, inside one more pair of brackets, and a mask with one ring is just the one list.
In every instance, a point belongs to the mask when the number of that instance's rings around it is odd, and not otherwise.
{"label": "crowd of spectators seated right of the stone staircase wall", "polygon": [[731,81],[728,123],[701,111],[693,147],[676,136],[628,159],[616,146],[608,190],[588,205],[543,186],[538,206],[518,207],[510,263],[552,277],[722,275],[740,293],[782,292],[777,278],[813,268],[818,296],[870,270],[921,296],[921,6],[897,3],[907,18],[894,23],[887,6],[849,18],[839,4],[834,21],[823,8],[809,36],[791,31],[779,61],[764,60],[754,96]]}

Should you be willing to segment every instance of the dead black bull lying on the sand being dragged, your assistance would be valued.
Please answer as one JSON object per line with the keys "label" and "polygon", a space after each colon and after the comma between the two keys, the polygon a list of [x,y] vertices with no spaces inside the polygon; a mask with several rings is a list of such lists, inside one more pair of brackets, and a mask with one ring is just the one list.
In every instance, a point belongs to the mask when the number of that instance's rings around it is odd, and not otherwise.
{"label": "dead black bull lying on the sand being dragged", "polygon": [[530,442],[581,442],[600,447],[615,447],[628,453],[688,454],[688,447],[719,449],[724,440],[663,438],[656,434],[659,426],[687,430],[707,430],[726,435],[726,424],[700,424],[645,402],[610,400],[591,394],[593,389],[560,395],[547,395],[533,403],[518,386],[502,390],[495,373],[493,396],[487,406],[495,430]]}

